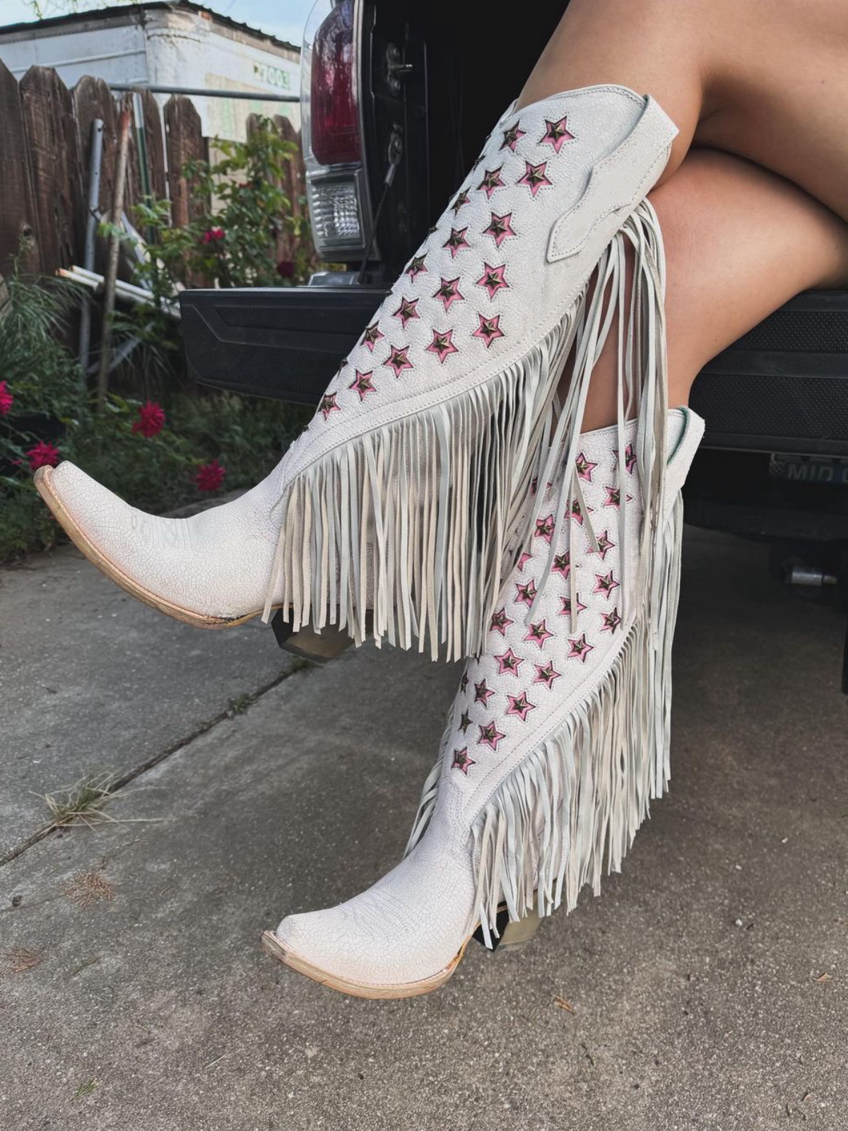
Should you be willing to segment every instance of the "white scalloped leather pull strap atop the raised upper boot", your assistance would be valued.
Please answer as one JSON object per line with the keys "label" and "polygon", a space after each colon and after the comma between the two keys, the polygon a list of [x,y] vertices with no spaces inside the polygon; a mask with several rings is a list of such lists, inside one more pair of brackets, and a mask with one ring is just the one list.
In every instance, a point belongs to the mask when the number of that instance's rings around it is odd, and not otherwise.
{"label": "white scalloped leather pull strap atop the raised upper boot", "polygon": [[[553,264],[574,256],[589,240],[592,231],[607,216],[621,211],[622,223],[652,185],[668,161],[677,127],[657,102],[647,95],[644,110],[629,136],[617,149],[598,162],[589,176],[586,191],[551,230],[547,261]],[[638,152],[638,161],[632,154]],[[655,153],[646,171],[644,154]]]}

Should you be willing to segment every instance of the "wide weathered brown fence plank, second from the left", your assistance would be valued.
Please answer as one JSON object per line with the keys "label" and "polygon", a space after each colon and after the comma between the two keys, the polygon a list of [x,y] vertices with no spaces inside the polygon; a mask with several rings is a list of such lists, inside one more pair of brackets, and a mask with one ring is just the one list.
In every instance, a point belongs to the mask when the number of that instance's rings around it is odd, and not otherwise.
{"label": "wide weathered brown fence plank, second from the left", "polygon": [[84,207],[73,102],[57,72],[31,67],[20,80],[20,105],[33,181],[41,269],[79,262]]}

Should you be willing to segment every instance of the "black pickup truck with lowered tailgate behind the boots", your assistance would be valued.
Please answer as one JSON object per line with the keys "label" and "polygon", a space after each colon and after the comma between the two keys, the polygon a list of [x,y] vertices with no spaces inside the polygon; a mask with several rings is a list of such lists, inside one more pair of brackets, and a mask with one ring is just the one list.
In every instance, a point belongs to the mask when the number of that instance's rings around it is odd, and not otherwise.
{"label": "black pickup truck with lowered tailgate behind the boots", "polygon": [[[479,0],[318,0],[302,137],[318,256],[309,286],[185,291],[193,377],[315,405],[520,90],[563,10],[509,26]],[[848,292],[801,294],[715,357],[686,519],[768,539],[775,572],[848,612]],[[848,637],[842,690],[848,692]]]}

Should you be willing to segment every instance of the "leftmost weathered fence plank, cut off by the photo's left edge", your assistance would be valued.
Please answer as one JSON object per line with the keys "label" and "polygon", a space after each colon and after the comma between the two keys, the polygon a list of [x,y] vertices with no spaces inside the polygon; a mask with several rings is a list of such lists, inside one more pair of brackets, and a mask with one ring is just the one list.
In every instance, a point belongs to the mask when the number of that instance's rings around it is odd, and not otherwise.
{"label": "leftmost weathered fence plank, cut off by the photo's left edge", "polygon": [[0,276],[8,275],[21,236],[28,238],[21,267],[37,270],[37,245],[33,187],[29,179],[20,92],[11,71],[0,61]]}

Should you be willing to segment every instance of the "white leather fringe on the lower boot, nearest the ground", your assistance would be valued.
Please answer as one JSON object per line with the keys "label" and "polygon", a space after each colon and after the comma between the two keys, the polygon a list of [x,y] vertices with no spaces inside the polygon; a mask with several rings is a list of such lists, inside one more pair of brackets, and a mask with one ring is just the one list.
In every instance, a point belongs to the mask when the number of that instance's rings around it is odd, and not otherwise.
{"label": "white leather fringe on the lower boot, nearest the ground", "polygon": [[[503,903],[518,920],[535,905],[550,915],[563,899],[572,910],[585,883],[598,895],[602,872],[621,870],[650,800],[667,788],[682,526],[678,495],[644,605],[609,672],[474,823],[475,916],[488,946]],[[433,805],[427,797],[429,813]]]}

